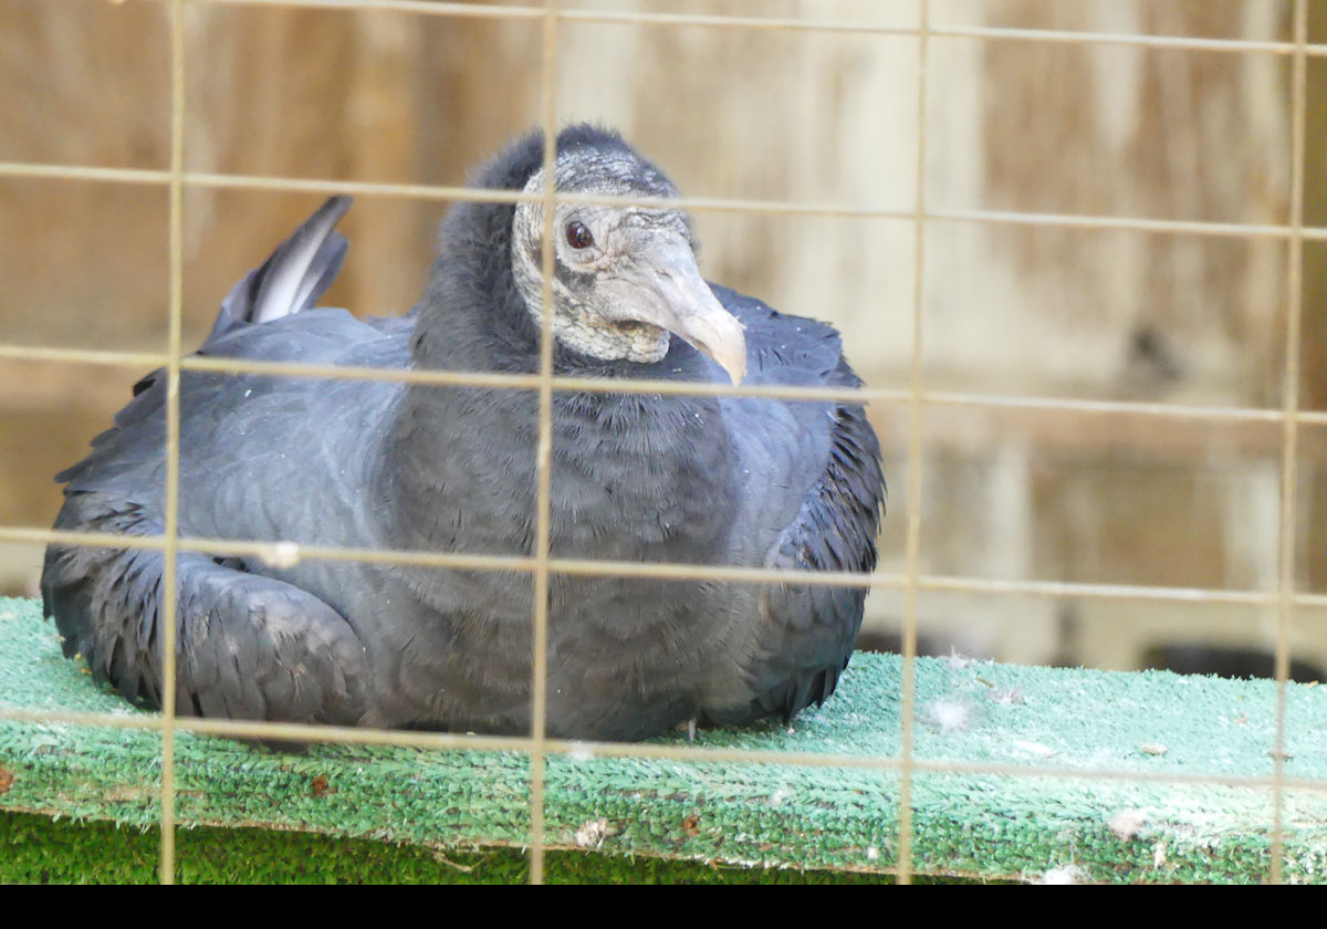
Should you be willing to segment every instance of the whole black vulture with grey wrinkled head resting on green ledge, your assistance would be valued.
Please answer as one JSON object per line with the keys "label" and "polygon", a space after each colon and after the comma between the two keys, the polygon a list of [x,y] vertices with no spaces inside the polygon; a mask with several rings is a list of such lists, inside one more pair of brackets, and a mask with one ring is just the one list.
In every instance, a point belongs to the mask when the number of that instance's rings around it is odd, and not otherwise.
{"label": "whole black vulture with grey wrinkled head resting on green ledge", "polygon": [[[551,281],[557,374],[860,384],[839,333],[707,285],[671,182],[616,133],[557,137]],[[544,190],[543,134],[475,187]],[[357,320],[314,304],[340,269],[333,198],[231,292],[199,354],[322,365],[539,369],[541,202],[455,204],[419,305]],[[66,482],[61,530],[165,528],[167,378],[134,388]],[[537,393],[186,372],[182,536],[529,556]],[[863,407],[557,390],[553,557],[868,572],[882,512]],[[293,561],[293,563],[292,563]],[[161,705],[163,556],[52,544],[45,612],[93,674]],[[178,556],[176,713],[529,731],[528,573]],[[791,718],[835,689],[864,587],[556,575],[547,731],[640,739],[681,723]]]}

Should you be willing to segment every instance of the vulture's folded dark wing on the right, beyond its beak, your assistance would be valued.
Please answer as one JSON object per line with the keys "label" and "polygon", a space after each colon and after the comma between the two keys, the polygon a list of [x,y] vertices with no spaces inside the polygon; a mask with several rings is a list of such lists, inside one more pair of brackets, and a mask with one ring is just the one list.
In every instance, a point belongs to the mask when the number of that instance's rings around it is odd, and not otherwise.
{"label": "vulture's folded dark wing on the right, beyond its beak", "polygon": [[[839,333],[828,325],[782,315],[725,288],[719,299],[739,316],[751,346],[748,384],[856,388],[860,378],[843,358]],[[796,427],[746,435],[748,461],[778,463],[792,494],[778,503],[787,518],[764,555],[764,567],[867,573],[876,567],[876,532],[884,511],[880,445],[865,410],[849,402],[787,403]],[[744,417],[743,422],[756,422]],[[791,423],[790,423],[791,426]],[[800,488],[808,488],[805,491]],[[770,504],[766,504],[770,506]],[[714,722],[742,723],[764,715],[791,719],[833,693],[861,626],[867,587],[770,585],[760,595],[760,657],[748,668],[754,697],[746,707],[711,713]]]}

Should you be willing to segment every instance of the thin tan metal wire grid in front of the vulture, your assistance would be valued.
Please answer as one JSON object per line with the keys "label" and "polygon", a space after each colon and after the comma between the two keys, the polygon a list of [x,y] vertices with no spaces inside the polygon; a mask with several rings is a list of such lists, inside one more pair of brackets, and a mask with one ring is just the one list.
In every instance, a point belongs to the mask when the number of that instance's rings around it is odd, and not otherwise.
{"label": "thin tan metal wire grid in front of the vulture", "polygon": [[[760,19],[734,16],[673,15],[673,13],[626,13],[559,9],[557,0],[545,0],[543,7],[476,7],[456,3],[429,3],[421,0],[158,0],[166,4],[170,19],[171,48],[171,158],[169,170],[130,170],[105,167],[66,167],[42,163],[0,162],[0,177],[64,178],[78,180],[102,180],[115,183],[138,183],[166,186],[170,194],[170,322],[166,353],[151,352],[101,352],[62,348],[33,348],[0,344],[0,358],[23,358],[35,361],[61,361],[96,365],[117,365],[129,368],[163,366],[167,370],[167,495],[166,532],[162,536],[127,539],[109,534],[64,532],[54,530],[32,530],[24,527],[0,526],[0,541],[36,541],[82,545],[115,545],[157,548],[166,561],[165,576],[165,681],[163,710],[158,717],[122,717],[86,713],[50,713],[36,710],[0,710],[0,719],[69,722],[109,727],[134,727],[161,730],[162,733],[162,788],[161,788],[161,880],[174,881],[174,734],[178,730],[212,733],[231,737],[312,741],[312,742],[354,742],[369,745],[402,745],[426,749],[487,749],[519,750],[531,758],[531,836],[529,836],[529,880],[541,883],[544,859],[543,835],[543,762],[548,752],[593,751],[605,756],[645,756],[682,760],[718,762],[766,762],[804,764],[816,767],[867,767],[897,770],[900,774],[900,835],[897,861],[893,871],[906,883],[912,873],[912,810],[910,788],[914,771],[945,771],[994,774],[1009,776],[1059,776],[1101,780],[1135,780],[1166,783],[1220,783],[1242,787],[1270,787],[1274,796],[1271,880],[1279,881],[1282,869],[1282,798],[1287,788],[1327,791],[1327,784],[1315,780],[1291,779],[1285,774],[1285,727],[1286,727],[1286,678],[1289,673],[1289,626],[1296,607],[1327,607],[1327,595],[1296,593],[1294,579],[1294,527],[1296,499],[1296,451],[1300,425],[1327,425],[1327,413],[1303,411],[1299,409],[1299,352],[1302,316],[1302,255],[1306,240],[1327,240],[1327,228],[1306,227],[1303,224],[1304,187],[1304,114],[1306,114],[1306,66],[1307,58],[1327,57],[1327,45],[1307,42],[1307,3],[1294,0],[1292,41],[1239,41],[1208,40],[1170,36],[1129,36],[1111,33],[1078,33],[1063,31],[1024,31],[1002,28],[932,28],[928,0],[920,0],[920,21],[912,27],[885,27],[868,23],[815,21],[794,19]],[[385,372],[374,369],[324,368],[291,364],[265,364],[230,358],[183,357],[180,346],[182,320],[182,195],[184,187],[230,187],[244,190],[280,190],[311,192],[365,192],[386,196],[405,196],[437,200],[483,199],[491,202],[511,202],[515,199],[541,199],[547,206],[557,202],[591,200],[617,202],[612,198],[573,198],[556,194],[551,186],[541,198],[522,194],[495,191],[475,191],[472,188],[391,184],[369,182],[301,180],[273,177],[249,177],[186,171],[183,166],[184,127],[184,60],[186,41],[183,19],[186,3],[212,5],[265,5],[300,7],[353,11],[395,11],[414,15],[527,19],[543,24],[543,122],[557,125],[555,77],[557,73],[559,27],[571,21],[634,23],[645,25],[695,25],[729,29],[778,29],[794,32],[860,32],[876,35],[902,35],[916,37],[920,46],[918,57],[918,149],[916,161],[917,199],[912,211],[859,210],[843,206],[804,204],[763,200],[738,200],[719,198],[683,198],[681,204],[693,210],[772,212],[823,216],[857,216],[909,219],[916,231],[916,277],[913,293],[913,345],[909,385],[906,389],[859,390],[816,390],[792,388],[731,388],[725,385],[667,385],[657,381],[613,381],[606,384],[596,380],[567,378],[552,376],[552,340],[549,317],[545,313],[540,350],[540,370],[537,376],[506,374],[460,374],[451,372]],[[1291,60],[1291,190],[1290,222],[1285,226],[1152,220],[1131,218],[1056,215],[1038,212],[1009,212],[986,210],[932,210],[928,208],[926,191],[926,93],[928,93],[928,50],[936,37],[969,37],[978,40],[1013,40],[1031,42],[1067,44],[1111,44],[1147,48],[1190,49],[1205,52],[1229,52],[1245,54],[1289,56]],[[551,167],[555,157],[553,135],[545,135],[545,167]],[[551,170],[545,171],[553,177]],[[1043,399],[1031,397],[1002,397],[990,394],[928,392],[924,385],[921,337],[922,337],[922,281],[925,268],[925,228],[936,222],[1009,223],[1023,226],[1048,226],[1062,228],[1092,230],[1135,230],[1145,232],[1170,232],[1202,236],[1231,236],[1241,239],[1277,238],[1289,244],[1286,263],[1286,360],[1285,388],[1281,409],[1238,409],[1220,406],[1178,406],[1166,403],[1135,403],[1108,401]],[[545,210],[544,227],[544,303],[551,305],[549,288],[552,276],[552,223],[551,211]],[[470,386],[504,386],[510,389],[537,390],[540,397],[540,434],[537,446],[537,539],[532,557],[503,557],[478,555],[442,555],[435,552],[405,552],[360,548],[326,548],[314,545],[295,545],[292,543],[251,543],[214,539],[179,539],[178,535],[178,470],[179,470],[179,378],[184,370],[222,370],[234,373],[284,374],[301,377],[330,378],[381,378],[415,384],[458,384]],[[551,475],[551,402],[553,390],[596,390],[596,392],[653,392],[687,393],[714,395],[759,395],[788,399],[857,399],[905,403],[908,407],[908,486],[909,518],[906,526],[905,571],[902,573],[876,572],[873,575],[819,573],[819,572],[775,572],[755,568],[729,568],[718,565],[686,564],[628,564],[596,561],[584,559],[551,557],[548,549],[549,523],[549,475]],[[1173,587],[1137,587],[1115,584],[1079,584],[1056,581],[995,580],[966,576],[922,575],[920,568],[921,549],[921,466],[924,410],[936,406],[970,407],[1024,407],[1040,410],[1070,411],[1084,417],[1100,414],[1129,414],[1160,417],[1170,419],[1202,419],[1218,422],[1265,421],[1282,426],[1282,495],[1281,532],[1278,540],[1279,579],[1275,592],[1254,591],[1212,591]],[[528,738],[516,737],[476,737],[438,733],[402,733],[361,729],[341,729],[326,726],[300,726],[289,723],[253,723],[224,719],[178,719],[174,713],[175,674],[175,596],[174,565],[178,552],[206,551],[218,555],[249,555],[269,560],[326,559],[353,561],[384,561],[394,564],[417,564],[449,568],[494,569],[531,573],[535,584],[535,670],[532,681],[532,733]],[[588,576],[633,576],[669,577],[677,580],[721,580],[743,583],[780,583],[795,579],[799,584],[863,585],[900,588],[904,592],[904,690],[902,690],[902,751],[900,758],[859,758],[833,754],[790,754],[755,752],[746,750],[714,750],[695,746],[660,745],[587,745],[545,738],[544,731],[544,681],[547,673],[547,585],[549,573]],[[1231,778],[1216,775],[1176,775],[1140,774],[1120,771],[1084,771],[1079,768],[1036,767],[1002,764],[973,764],[957,762],[936,762],[914,758],[912,737],[914,727],[913,674],[917,638],[917,596],[921,591],[966,591],[994,595],[1034,595],[1046,597],[1092,597],[1136,601],[1185,601],[1185,603],[1238,603],[1259,607],[1277,607],[1277,734],[1273,747],[1274,770],[1270,778]]]}

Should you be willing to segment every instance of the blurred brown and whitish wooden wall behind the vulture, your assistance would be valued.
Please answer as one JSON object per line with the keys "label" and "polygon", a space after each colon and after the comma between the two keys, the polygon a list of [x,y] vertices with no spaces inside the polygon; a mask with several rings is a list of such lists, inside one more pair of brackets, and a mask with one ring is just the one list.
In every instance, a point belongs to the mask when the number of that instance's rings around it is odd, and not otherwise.
{"label": "blurred brown and whitish wooden wall behind the vulture", "polygon": [[[1289,37],[1285,3],[930,7],[937,27]],[[917,16],[904,0],[687,0],[666,9],[886,25]],[[207,4],[187,12],[191,171],[454,184],[539,121],[539,21]],[[918,267],[906,219],[917,195],[914,37],[568,23],[559,40],[561,118],[621,127],[685,192],[904,214],[702,211],[697,224],[711,279],[832,320],[868,382],[906,385]],[[0,159],[165,169],[167,46],[155,3],[0,0]],[[933,211],[1287,219],[1289,58],[937,37],[928,73]],[[1311,81],[1314,114],[1322,69]],[[1315,159],[1322,142],[1315,129]],[[1320,174],[1308,173],[1312,203],[1322,202]],[[206,332],[234,280],[317,200],[188,190],[186,345]],[[361,196],[344,224],[352,259],[330,301],[376,315],[409,308],[445,206]],[[163,348],[166,218],[158,186],[0,177],[0,338]],[[1327,222],[1312,208],[1308,219]],[[929,223],[928,386],[1279,406],[1285,264],[1285,243],[1273,238]],[[1302,395],[1323,409],[1327,325],[1316,264],[1306,279]],[[58,504],[49,475],[81,454],[139,373],[0,362],[0,523],[49,524]],[[922,498],[913,502],[904,494],[905,410],[877,405],[872,414],[893,488],[886,568],[901,568],[906,514],[920,503],[925,571],[1241,589],[1275,583],[1275,427],[930,407]],[[1300,576],[1319,591],[1327,589],[1316,541],[1327,523],[1320,431],[1302,437],[1299,552]],[[13,560],[31,576],[37,557],[24,549]],[[897,597],[872,603],[876,621],[890,625]],[[1133,658],[1119,630],[1153,617],[1227,628],[1230,640],[1262,642],[1270,629],[1257,610],[1180,613],[1036,599],[922,603],[924,633],[1027,661],[1127,665]],[[1319,640],[1296,641],[1327,653]],[[1103,657],[1082,657],[1091,648]]]}

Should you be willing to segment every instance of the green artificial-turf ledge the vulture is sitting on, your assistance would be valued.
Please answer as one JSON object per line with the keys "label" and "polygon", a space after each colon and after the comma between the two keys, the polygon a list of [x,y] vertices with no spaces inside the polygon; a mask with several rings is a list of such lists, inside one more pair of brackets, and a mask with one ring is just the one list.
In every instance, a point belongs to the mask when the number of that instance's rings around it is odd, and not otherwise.
{"label": "green artificial-turf ledge the vulture is sitting on", "polygon": [[[791,729],[703,731],[695,745],[898,758],[901,679],[898,657],[859,654],[835,698]],[[1267,681],[918,660],[913,756],[925,767],[912,778],[913,868],[981,880],[1266,880],[1271,787],[1164,778],[1270,778],[1275,697]],[[1327,869],[1327,689],[1290,685],[1286,706],[1294,786],[1282,794],[1282,876],[1318,881]],[[135,713],[60,656],[53,626],[28,600],[0,600],[0,707]],[[686,747],[681,734],[664,742]],[[131,828],[82,828],[100,829],[104,844],[133,836],[155,849],[141,829],[158,818],[159,751],[149,730],[0,722],[0,810],[60,818],[0,816],[7,845],[24,848],[0,880],[151,880],[153,851],[147,864],[121,869],[80,852],[62,829],[66,819],[110,820]],[[180,733],[175,758],[180,823],[230,827],[180,829],[182,880],[466,880],[476,860],[483,876],[471,880],[524,873],[529,766],[519,752],[328,745],[283,754]],[[940,763],[965,770],[930,770]],[[975,764],[1027,774],[966,770]],[[545,776],[547,844],[571,849],[549,857],[555,880],[707,880],[740,867],[772,883],[894,868],[896,770],[579,752],[551,755]],[[352,840],[376,841],[346,853]],[[292,868],[311,841],[346,857],[330,869]],[[257,849],[242,857],[267,856],[271,869],[196,851],[216,843]],[[597,853],[573,851],[587,845]]]}

